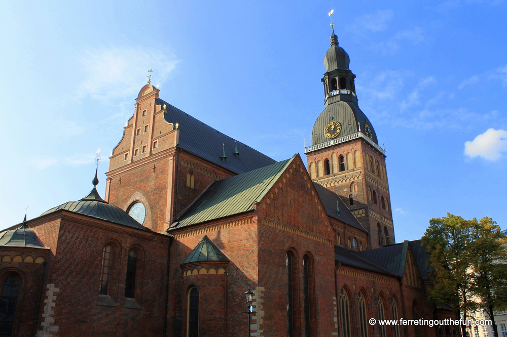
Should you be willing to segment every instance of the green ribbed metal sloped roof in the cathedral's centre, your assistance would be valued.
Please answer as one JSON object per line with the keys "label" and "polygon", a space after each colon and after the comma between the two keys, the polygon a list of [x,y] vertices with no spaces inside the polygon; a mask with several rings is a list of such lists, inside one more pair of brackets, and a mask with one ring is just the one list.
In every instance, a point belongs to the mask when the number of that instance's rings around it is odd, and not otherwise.
{"label": "green ribbed metal sloped roof in the cathedral's centre", "polygon": [[261,201],[295,156],[212,183],[170,229],[253,210],[253,202]]}

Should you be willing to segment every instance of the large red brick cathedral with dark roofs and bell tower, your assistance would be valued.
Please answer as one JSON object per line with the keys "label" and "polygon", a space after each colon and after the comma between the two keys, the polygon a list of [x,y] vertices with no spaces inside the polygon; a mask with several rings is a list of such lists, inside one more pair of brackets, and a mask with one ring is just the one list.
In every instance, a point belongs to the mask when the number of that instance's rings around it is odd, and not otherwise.
{"label": "large red brick cathedral with dark roofs and bell tower", "polygon": [[306,163],[144,86],[103,198],[95,176],[0,233],[0,336],[245,336],[248,289],[252,337],[457,336],[368,323],[456,316],[427,300],[420,240],[395,241],[385,153],[334,33],[324,66]]}

